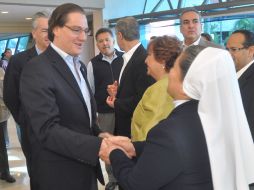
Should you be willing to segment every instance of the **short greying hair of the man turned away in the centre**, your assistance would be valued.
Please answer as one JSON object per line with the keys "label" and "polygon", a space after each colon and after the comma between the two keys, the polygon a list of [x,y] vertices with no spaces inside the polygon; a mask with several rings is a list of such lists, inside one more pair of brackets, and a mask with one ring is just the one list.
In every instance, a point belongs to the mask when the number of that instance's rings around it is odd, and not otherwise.
{"label": "short greying hair of the man turned away in the centre", "polygon": [[125,17],[117,21],[116,32],[120,32],[127,41],[139,40],[139,24],[134,17]]}

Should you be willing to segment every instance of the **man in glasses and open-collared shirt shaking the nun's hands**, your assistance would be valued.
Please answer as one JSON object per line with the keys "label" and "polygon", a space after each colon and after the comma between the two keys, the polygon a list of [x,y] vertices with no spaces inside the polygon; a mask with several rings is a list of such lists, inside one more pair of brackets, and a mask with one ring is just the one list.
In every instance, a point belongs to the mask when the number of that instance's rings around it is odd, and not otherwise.
{"label": "man in glasses and open-collared shirt shaking the nun's hands", "polygon": [[97,190],[98,159],[106,146],[96,105],[79,61],[89,33],[82,7],[58,6],[49,19],[50,46],[25,65],[21,103],[29,122],[32,174],[37,190]]}

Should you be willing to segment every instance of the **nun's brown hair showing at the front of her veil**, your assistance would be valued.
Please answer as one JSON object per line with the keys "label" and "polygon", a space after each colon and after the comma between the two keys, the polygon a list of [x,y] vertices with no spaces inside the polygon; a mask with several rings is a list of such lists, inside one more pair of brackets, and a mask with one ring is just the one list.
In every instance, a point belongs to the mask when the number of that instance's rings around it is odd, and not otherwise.
{"label": "nun's brown hair showing at the front of her veil", "polygon": [[203,51],[206,47],[200,45],[193,45],[186,48],[179,59],[179,65],[182,73],[182,80],[185,78],[191,64],[197,55]]}

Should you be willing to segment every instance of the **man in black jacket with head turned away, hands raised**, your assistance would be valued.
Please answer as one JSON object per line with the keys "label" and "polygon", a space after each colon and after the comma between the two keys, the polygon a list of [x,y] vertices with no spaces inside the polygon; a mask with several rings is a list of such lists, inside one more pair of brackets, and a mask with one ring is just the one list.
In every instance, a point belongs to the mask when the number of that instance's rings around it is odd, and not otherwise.
{"label": "man in black jacket with head turned away, hands raised", "polygon": [[154,80],[147,75],[146,50],[139,42],[139,25],[133,17],[120,19],[116,24],[116,39],[124,64],[116,83],[109,85],[107,103],[115,109],[115,134],[130,137],[131,118],[143,93]]}

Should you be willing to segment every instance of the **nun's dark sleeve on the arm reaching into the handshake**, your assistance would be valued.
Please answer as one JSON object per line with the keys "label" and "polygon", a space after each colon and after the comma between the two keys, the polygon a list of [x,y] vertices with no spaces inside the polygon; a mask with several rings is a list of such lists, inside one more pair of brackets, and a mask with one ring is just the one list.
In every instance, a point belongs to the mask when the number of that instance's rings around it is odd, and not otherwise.
{"label": "nun's dark sleeve on the arm reaching into the handshake", "polygon": [[155,128],[136,163],[119,149],[110,154],[110,161],[114,176],[128,190],[160,189],[182,170],[174,142],[163,130]]}

